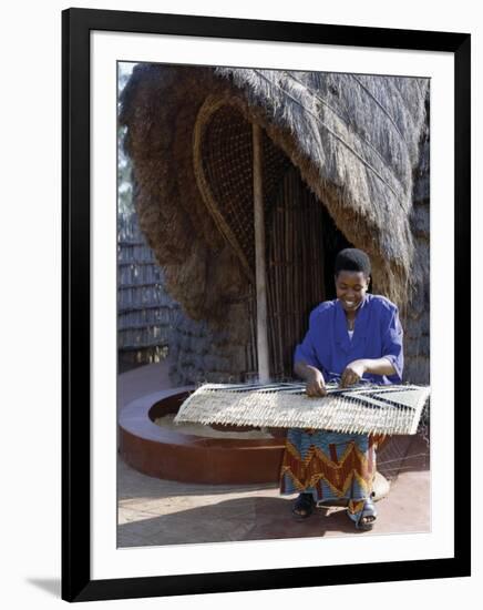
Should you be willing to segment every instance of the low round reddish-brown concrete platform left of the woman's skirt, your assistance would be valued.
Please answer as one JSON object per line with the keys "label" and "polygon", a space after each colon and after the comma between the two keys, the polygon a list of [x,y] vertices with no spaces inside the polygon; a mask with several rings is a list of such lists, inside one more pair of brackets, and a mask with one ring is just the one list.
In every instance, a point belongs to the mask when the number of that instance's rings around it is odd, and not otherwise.
{"label": "low round reddish-brown concrete platform left of the woman's skirt", "polygon": [[120,454],[126,464],[151,477],[182,482],[278,481],[285,448],[282,437],[212,438],[154,423],[163,415],[177,413],[189,392],[192,387],[147,394],[121,410]]}

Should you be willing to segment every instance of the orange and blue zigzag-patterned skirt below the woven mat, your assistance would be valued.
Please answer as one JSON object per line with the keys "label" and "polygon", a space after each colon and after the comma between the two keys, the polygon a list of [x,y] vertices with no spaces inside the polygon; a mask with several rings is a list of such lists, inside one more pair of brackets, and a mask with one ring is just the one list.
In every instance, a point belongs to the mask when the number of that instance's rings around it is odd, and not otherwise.
{"label": "orange and blue zigzag-patterned skirt below the woven mat", "polygon": [[290,428],[280,494],[310,492],[315,501],[347,500],[357,511],[372,491],[376,448],[382,437]]}

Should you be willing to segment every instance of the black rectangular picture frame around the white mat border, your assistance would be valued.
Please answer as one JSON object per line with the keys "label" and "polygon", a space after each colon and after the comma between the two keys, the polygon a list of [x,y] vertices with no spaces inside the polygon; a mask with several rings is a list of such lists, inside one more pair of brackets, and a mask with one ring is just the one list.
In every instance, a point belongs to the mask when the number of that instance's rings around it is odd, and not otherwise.
{"label": "black rectangular picture frame around the white mat border", "polygon": [[[454,54],[454,557],[386,563],[91,579],[90,520],[90,32],[439,51]],[[177,596],[470,576],[471,37],[465,33],[69,9],[62,13],[62,598]],[[464,356],[464,357],[463,357]],[[456,404],[456,396],[454,397]]]}

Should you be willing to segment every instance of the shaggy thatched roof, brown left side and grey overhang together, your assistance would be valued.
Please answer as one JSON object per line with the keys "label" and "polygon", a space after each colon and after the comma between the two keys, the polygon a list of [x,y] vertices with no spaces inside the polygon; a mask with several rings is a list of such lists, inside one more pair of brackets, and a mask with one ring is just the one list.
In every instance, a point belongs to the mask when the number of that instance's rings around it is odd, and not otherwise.
{"label": "shaggy thatched roof, brown left side and grey overhang together", "polygon": [[[234,167],[235,175],[225,167],[227,186],[216,186],[223,160],[246,135],[242,116],[268,136],[266,199],[284,170],[281,150],[347,240],[371,255],[374,291],[404,306],[422,281],[410,215],[427,93],[428,81],[412,78],[138,64],[123,92],[121,123],[141,226],[173,297],[203,318],[223,316],[226,303],[246,294],[250,234],[224,232],[217,206],[238,197],[233,214],[244,224],[240,181],[249,167]],[[226,150],[216,113],[220,126],[230,118],[238,125]],[[208,135],[216,144],[209,167]]]}

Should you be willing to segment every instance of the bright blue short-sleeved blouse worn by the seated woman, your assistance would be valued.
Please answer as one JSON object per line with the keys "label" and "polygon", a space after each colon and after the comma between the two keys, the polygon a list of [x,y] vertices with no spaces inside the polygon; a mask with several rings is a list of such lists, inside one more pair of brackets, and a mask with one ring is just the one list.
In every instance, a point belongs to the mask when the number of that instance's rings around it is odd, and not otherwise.
{"label": "bright blue short-sleeved blouse worn by the seated woman", "polygon": [[384,296],[367,294],[356,316],[352,338],[339,302],[325,301],[310,314],[309,329],[295,349],[294,362],[318,368],[326,382],[337,380],[346,366],[361,358],[388,358],[395,375],[364,374],[362,379],[379,385],[402,382],[404,366],[402,327],[398,307]]}

